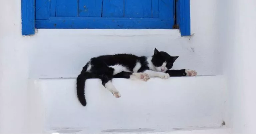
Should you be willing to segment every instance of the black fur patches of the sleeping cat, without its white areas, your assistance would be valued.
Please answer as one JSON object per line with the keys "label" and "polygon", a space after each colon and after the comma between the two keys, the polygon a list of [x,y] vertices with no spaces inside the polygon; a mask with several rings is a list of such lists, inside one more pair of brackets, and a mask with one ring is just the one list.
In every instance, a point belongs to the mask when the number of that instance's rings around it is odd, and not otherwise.
{"label": "black fur patches of the sleeping cat, without its white areas", "polygon": [[[152,56],[151,62],[155,67],[159,67],[163,64],[163,62],[167,61],[166,67],[168,69],[172,68],[174,61],[178,57],[172,57],[166,52],[159,52],[155,49],[154,55]],[[102,85],[108,81],[111,81],[112,78],[130,78],[132,75],[133,68],[136,63],[140,62],[141,67],[138,72],[144,72],[145,70],[149,70],[147,57],[145,56],[135,56],[132,54],[116,54],[116,55],[104,55],[99,57],[91,58],[91,60],[83,67],[83,70],[77,77],[77,97],[83,106],[86,106],[86,99],[84,94],[85,81],[88,78],[99,78],[102,80]],[[119,72],[115,75],[114,69],[109,66],[114,66],[120,64],[125,66],[131,72]],[[90,70],[87,70],[91,66]],[[172,70],[167,71],[170,76],[184,76],[185,70]]]}

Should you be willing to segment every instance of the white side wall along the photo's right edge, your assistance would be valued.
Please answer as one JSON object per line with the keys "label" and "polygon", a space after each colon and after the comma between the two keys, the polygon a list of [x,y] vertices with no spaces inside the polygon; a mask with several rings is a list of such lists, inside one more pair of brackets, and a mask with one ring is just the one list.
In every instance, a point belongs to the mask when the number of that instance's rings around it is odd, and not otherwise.
{"label": "white side wall along the photo's right edge", "polygon": [[219,42],[223,46],[232,133],[256,133],[256,1],[219,0]]}

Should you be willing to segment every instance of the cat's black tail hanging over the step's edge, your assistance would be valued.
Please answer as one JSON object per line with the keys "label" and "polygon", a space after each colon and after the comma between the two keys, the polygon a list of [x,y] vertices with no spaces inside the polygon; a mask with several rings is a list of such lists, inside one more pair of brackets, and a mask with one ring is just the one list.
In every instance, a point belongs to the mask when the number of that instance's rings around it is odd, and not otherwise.
{"label": "cat's black tail hanging over the step's edge", "polygon": [[79,74],[76,79],[77,97],[83,106],[86,106],[86,100],[85,100],[85,94],[84,94],[85,80],[88,78],[91,78],[90,75],[91,75],[90,72],[81,72],[81,74]]}

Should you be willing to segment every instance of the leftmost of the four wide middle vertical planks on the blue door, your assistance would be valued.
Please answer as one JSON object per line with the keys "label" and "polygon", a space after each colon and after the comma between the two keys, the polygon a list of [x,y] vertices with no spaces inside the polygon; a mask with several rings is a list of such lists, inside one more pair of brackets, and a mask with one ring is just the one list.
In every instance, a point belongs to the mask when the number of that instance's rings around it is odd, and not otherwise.
{"label": "leftmost of the four wide middle vertical planks on the blue door", "polygon": [[[93,0],[92,0],[93,1]],[[78,0],[57,0],[56,16],[78,16]]]}

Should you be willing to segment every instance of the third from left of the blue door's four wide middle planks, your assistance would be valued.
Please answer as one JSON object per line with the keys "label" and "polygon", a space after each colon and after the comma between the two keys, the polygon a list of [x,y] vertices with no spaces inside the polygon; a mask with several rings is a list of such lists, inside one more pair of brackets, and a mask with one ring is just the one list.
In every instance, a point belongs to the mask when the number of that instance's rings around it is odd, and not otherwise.
{"label": "third from left of the blue door's four wide middle planks", "polygon": [[103,0],[102,17],[124,17],[124,0]]}

